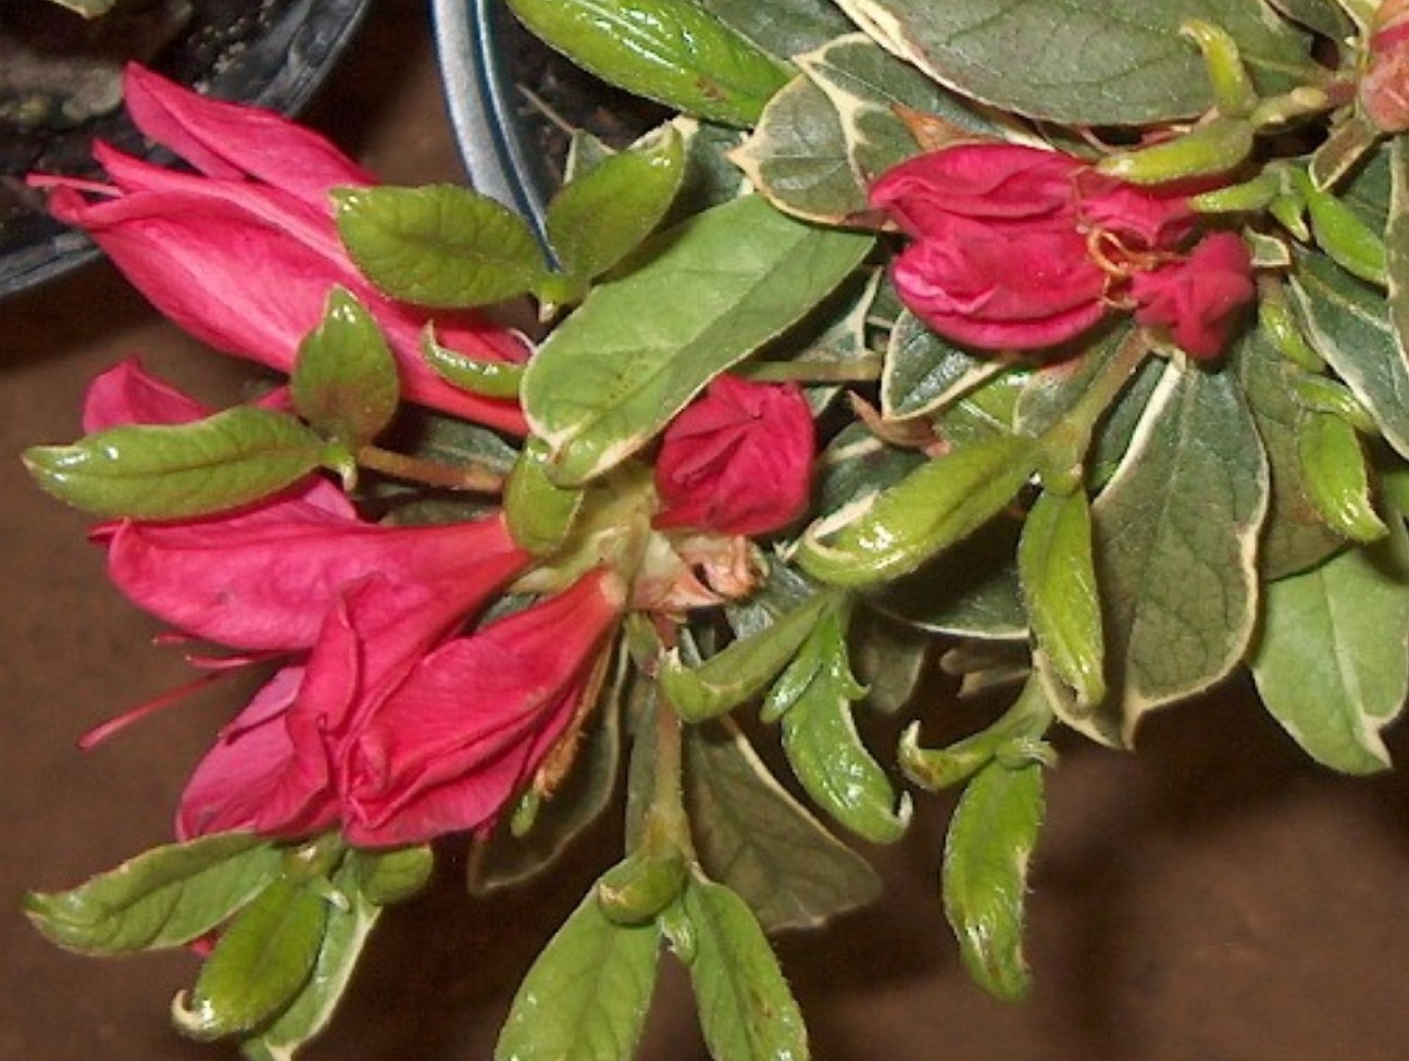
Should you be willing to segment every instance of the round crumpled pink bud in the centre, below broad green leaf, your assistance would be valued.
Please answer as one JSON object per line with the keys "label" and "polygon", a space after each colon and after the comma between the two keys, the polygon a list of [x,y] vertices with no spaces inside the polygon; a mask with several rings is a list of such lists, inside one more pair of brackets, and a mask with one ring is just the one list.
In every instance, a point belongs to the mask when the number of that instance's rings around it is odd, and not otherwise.
{"label": "round crumpled pink bud in the centre, below broad green leaf", "polygon": [[816,438],[795,385],[719,376],[665,430],[655,526],[766,534],[807,504]]}

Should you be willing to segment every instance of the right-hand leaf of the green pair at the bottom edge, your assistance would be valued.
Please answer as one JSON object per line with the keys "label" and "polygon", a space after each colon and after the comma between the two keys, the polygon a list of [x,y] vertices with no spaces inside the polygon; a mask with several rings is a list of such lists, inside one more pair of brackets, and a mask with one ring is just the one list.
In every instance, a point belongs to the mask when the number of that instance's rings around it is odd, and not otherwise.
{"label": "right-hand leaf of the green pair at the bottom edge", "polygon": [[807,1061],[807,1030],[778,958],[748,906],[695,878],[685,889],[700,1029],[714,1061]]}

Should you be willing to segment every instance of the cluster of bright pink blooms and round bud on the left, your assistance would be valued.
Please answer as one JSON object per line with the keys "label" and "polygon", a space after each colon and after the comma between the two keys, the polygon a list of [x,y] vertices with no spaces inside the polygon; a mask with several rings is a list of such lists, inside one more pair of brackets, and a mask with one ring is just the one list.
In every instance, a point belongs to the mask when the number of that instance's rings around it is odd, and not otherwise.
{"label": "cluster of bright pink blooms and round bud on the left", "polygon": [[[369,176],[276,116],[201,99],[139,68],[127,90],[142,130],[203,175],[99,145],[113,185],[35,183],[168,316],[287,371],[330,286],[345,285],[372,307],[411,399],[523,430],[516,403],[434,376],[416,354],[426,314],[375,292],[348,261],[328,192]],[[437,317],[435,328],[461,352],[527,354],[517,335],[472,314]],[[265,403],[286,406],[287,392]],[[85,427],[182,424],[210,411],[130,361],[94,380]],[[812,416],[796,387],[721,378],[666,433],[655,523],[714,535],[778,530],[806,502],[812,457]],[[321,476],[254,506],[118,520],[94,537],[114,585],[183,635],[235,650],[237,661],[285,661],[197,767],[178,813],[182,837],[338,829],[352,844],[387,847],[493,826],[571,744],[634,578],[597,565],[464,633],[534,562],[503,513],[369,523]]]}

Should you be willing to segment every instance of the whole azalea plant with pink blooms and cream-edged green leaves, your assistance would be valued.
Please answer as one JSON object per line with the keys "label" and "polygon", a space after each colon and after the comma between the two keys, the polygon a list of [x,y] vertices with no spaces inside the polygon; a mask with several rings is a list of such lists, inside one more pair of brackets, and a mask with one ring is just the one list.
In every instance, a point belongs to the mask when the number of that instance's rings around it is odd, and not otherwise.
{"label": "whole azalea plant with pink blooms and cream-edged green leaves", "polygon": [[[187,166],[31,178],[287,378],[213,410],[130,361],[27,454],[196,666],[269,668],[173,843],[32,893],[45,936],[190,947],[176,1027],[289,1058],[438,852],[478,893],[624,814],[496,1057],[630,1058],[668,954],[713,1057],[803,1058],[768,934],[878,898],[837,834],[958,789],[937,900],[1016,999],[1057,730],[1126,747],[1247,668],[1388,767],[1409,3],[510,6],[674,113],[575,138],[545,242],[139,68]],[[992,721],[944,744],[955,695]]]}

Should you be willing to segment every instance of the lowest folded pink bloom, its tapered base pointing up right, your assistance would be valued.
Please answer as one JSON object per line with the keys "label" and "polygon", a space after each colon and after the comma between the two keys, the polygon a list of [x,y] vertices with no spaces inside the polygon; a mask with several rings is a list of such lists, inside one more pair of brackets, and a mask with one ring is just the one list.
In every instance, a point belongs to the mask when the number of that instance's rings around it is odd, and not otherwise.
{"label": "lowest folded pink bloom, its tapered base pointing up right", "polygon": [[341,824],[385,847],[492,827],[590,706],[624,606],[599,569],[427,655],[386,628],[385,592],[382,579],[349,589],[309,664],[221,734],[182,798],[180,836]]}

